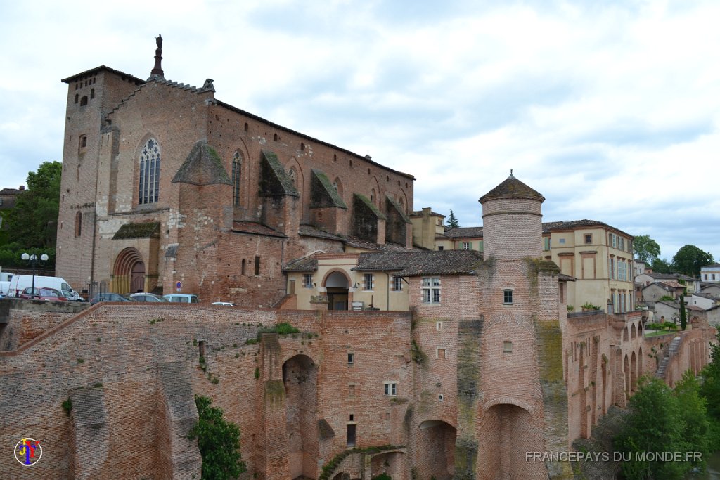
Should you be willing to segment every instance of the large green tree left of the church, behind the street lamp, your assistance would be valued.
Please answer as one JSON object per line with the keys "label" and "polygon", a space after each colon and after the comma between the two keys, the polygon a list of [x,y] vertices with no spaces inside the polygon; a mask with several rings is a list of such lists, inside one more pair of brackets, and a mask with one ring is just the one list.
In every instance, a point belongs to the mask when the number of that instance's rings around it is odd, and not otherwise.
{"label": "large green tree left of the church, behind the street lamp", "polygon": [[27,190],[17,196],[5,221],[7,241],[20,248],[55,249],[60,205],[60,162],[45,162],[27,174]]}

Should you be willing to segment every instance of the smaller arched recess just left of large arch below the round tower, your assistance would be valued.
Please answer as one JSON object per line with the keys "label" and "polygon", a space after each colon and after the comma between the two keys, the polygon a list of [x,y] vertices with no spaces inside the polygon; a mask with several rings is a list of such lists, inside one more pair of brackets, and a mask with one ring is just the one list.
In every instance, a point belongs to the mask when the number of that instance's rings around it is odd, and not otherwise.
{"label": "smaller arched recess just left of large arch below the round tower", "polygon": [[418,427],[415,465],[437,480],[449,480],[455,473],[457,431],[442,420],[426,420]]}

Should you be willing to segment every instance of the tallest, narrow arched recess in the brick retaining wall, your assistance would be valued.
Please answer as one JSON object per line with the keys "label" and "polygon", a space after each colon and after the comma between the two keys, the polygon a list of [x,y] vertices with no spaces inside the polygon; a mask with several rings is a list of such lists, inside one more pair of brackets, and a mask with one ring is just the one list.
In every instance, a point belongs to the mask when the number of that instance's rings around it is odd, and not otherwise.
{"label": "tallest, narrow arched recess in the brick retaining wall", "polygon": [[289,478],[318,477],[318,367],[296,355],[282,366]]}

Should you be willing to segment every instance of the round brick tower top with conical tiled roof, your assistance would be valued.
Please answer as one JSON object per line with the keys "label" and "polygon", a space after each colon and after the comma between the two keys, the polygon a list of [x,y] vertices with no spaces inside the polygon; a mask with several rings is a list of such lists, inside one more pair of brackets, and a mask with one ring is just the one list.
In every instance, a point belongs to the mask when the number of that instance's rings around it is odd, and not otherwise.
{"label": "round brick tower top with conical tiled roof", "polygon": [[545,197],[513,176],[480,198],[485,258],[516,260],[542,255]]}

